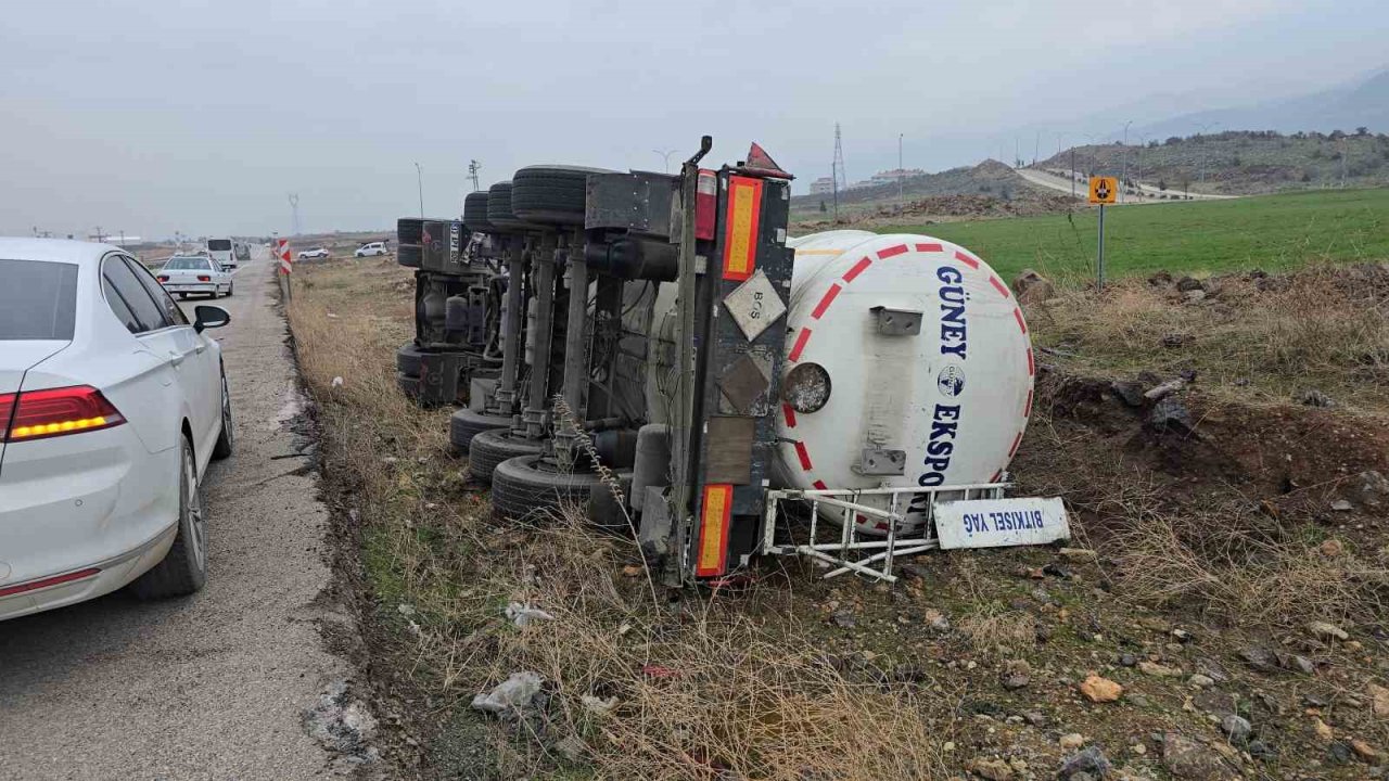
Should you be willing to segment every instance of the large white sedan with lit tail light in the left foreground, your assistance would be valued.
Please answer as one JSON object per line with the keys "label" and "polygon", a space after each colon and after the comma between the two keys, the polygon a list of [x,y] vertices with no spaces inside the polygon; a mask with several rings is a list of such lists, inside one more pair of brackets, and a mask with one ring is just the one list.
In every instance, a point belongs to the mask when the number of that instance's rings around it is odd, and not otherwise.
{"label": "large white sedan with lit tail light in the left foreground", "polygon": [[0,239],[0,620],[207,578],[201,478],[232,452],[231,321],[119,247]]}

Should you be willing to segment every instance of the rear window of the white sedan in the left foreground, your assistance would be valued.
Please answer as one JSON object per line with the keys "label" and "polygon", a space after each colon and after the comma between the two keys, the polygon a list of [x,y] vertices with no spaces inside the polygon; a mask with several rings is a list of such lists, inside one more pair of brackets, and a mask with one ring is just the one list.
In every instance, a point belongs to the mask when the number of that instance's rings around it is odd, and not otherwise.
{"label": "rear window of the white sedan in the left foreground", "polygon": [[76,306],[76,264],[0,258],[0,340],[71,339]]}

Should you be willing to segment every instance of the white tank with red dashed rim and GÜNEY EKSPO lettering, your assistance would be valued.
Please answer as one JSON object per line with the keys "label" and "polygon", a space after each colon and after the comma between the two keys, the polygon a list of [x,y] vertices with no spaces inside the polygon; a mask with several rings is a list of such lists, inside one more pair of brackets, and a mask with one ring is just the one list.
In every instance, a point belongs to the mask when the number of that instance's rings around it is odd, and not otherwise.
{"label": "white tank with red dashed rim and G\u00dcNEY EKSPO lettering", "polygon": [[[796,250],[774,464],[779,488],[951,486],[1000,478],[1032,411],[1035,359],[1007,283],[979,257],[913,233],[829,231]],[[671,313],[661,285],[656,313]],[[647,382],[664,422],[674,317]],[[863,504],[888,509],[889,499]],[[899,510],[906,507],[899,506]],[[838,510],[825,517],[840,520]],[[910,513],[899,532],[925,521]],[[864,523],[860,531],[883,534]]]}

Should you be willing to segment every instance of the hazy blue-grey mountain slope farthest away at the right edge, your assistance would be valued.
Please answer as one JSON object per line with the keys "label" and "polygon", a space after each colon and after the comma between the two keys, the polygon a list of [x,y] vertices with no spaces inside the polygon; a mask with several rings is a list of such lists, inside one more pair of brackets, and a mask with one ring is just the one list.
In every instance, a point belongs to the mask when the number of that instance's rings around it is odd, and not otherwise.
{"label": "hazy blue-grey mountain slope farthest away at the right edge", "polygon": [[1389,69],[1332,89],[1249,106],[1181,114],[1138,128],[1149,136],[1186,135],[1201,125],[1215,129],[1257,128],[1292,133],[1365,126],[1389,132]]}

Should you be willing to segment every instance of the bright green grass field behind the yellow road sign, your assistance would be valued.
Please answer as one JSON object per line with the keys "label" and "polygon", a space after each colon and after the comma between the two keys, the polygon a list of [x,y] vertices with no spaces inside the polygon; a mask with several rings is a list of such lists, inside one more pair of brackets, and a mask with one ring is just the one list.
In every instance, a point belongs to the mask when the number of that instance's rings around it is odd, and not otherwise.
{"label": "bright green grass field behind the yellow road sign", "polygon": [[[1096,210],[1083,210],[878,232],[926,233],[954,242],[1010,279],[1031,267],[1058,281],[1078,281],[1095,274],[1097,218]],[[1108,277],[1383,260],[1389,258],[1389,188],[1111,207],[1104,214],[1104,235]]]}

